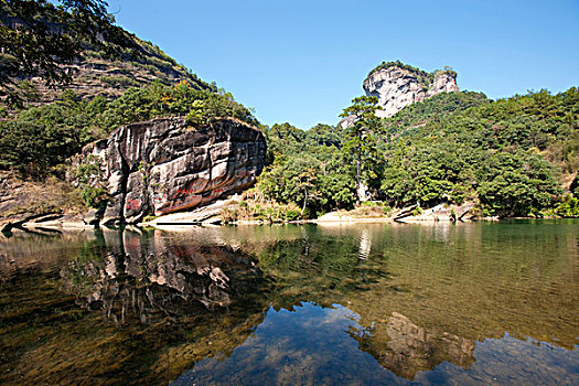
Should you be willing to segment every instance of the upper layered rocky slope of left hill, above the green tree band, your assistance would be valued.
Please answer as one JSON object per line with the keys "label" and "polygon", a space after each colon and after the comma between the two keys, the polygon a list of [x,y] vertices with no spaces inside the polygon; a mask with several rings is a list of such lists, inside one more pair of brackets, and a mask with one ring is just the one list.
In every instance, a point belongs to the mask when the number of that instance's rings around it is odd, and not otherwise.
{"label": "upper layered rocky slope of left hill, above the green tree band", "polygon": [[[114,33],[104,35],[96,32],[98,28],[93,25],[94,21],[75,20],[72,11],[64,13],[72,21],[63,25],[58,23],[63,18],[62,12],[60,8],[45,1],[2,2],[0,7],[0,25],[4,34],[0,40],[3,47],[0,53],[0,68],[4,73],[2,86],[6,87],[9,83],[10,92],[21,97],[25,107],[52,103],[60,98],[61,87],[53,87],[54,83],[51,81],[54,79],[44,75],[68,76],[66,88],[74,90],[79,98],[88,100],[95,96],[114,99],[130,87],[140,87],[152,81],[164,85],[186,81],[196,89],[216,90],[214,85],[200,79],[153,43],[142,41],[112,24],[107,24],[106,28]],[[106,18],[111,17],[107,14]],[[89,29],[89,35],[66,31],[78,29],[81,22],[83,28]],[[35,24],[30,25],[31,23]],[[86,23],[90,25],[86,26]],[[23,31],[30,34],[20,33]],[[11,47],[12,44],[26,44],[34,52],[25,52],[25,55],[19,56],[21,52]],[[50,60],[46,61],[40,55],[42,62],[49,63],[31,63],[29,68],[18,63],[24,62],[25,57],[34,53],[54,58],[55,65],[52,66]],[[33,71],[29,71],[31,68]],[[0,107],[7,108],[3,98],[0,103],[4,105]]]}

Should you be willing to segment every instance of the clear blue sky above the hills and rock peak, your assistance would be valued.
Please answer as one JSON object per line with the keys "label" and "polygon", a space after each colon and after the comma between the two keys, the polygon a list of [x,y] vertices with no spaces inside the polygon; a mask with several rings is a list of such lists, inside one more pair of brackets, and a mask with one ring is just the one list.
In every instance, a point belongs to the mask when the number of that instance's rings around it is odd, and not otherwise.
{"label": "clear blue sky above the hills and rock peak", "polygon": [[383,61],[491,98],[579,85],[579,0],[109,0],[117,23],[266,124],[335,125]]}

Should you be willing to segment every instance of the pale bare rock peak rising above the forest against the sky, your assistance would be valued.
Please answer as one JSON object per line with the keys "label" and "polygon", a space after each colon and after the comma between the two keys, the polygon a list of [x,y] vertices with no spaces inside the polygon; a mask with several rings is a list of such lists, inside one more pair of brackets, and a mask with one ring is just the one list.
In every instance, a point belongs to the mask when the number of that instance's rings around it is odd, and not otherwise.
{"label": "pale bare rock peak rising above the forest against the sky", "polygon": [[440,71],[431,81],[410,69],[390,66],[373,72],[364,81],[363,87],[368,96],[378,97],[380,118],[392,117],[403,108],[422,101],[440,93],[458,92],[455,76]]}

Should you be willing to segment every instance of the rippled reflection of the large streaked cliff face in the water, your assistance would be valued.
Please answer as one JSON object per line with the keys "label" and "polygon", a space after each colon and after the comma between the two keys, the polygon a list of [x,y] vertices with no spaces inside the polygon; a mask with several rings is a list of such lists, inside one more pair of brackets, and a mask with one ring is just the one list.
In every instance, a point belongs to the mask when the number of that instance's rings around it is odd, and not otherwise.
{"label": "rippled reflection of the large streaked cliff face in the water", "polygon": [[61,271],[79,305],[125,323],[176,319],[196,307],[227,308],[260,291],[265,280],[247,255],[226,246],[174,244],[162,234],[97,234],[104,259],[72,261]]}

